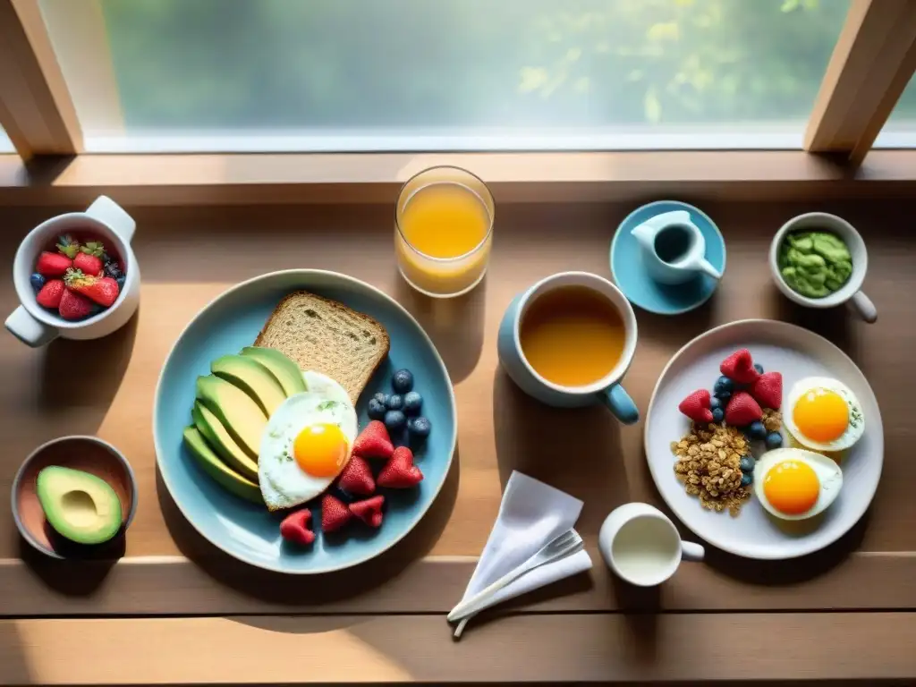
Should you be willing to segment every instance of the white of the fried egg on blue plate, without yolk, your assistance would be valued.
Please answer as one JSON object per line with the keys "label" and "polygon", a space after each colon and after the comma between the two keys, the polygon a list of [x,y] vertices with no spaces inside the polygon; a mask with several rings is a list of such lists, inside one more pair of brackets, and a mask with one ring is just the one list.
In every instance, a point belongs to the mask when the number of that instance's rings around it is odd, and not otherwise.
{"label": "white of the fried egg on blue plate, without yolk", "polygon": [[344,433],[348,453],[356,438],[356,409],[346,389],[331,377],[312,370],[303,372],[302,377],[308,390],[287,398],[267,420],[261,435],[257,476],[270,510],[305,503],[334,480],[307,474],[300,468],[292,446],[300,431],[314,424],[335,424]]}

